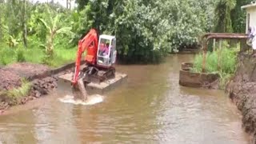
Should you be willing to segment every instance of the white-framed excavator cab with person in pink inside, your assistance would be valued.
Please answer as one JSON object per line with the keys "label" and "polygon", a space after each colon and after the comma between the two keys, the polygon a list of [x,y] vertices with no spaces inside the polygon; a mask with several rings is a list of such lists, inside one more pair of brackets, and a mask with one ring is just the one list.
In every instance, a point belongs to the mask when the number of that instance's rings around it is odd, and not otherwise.
{"label": "white-framed excavator cab with person in pink inside", "polygon": [[115,63],[117,55],[116,38],[111,35],[102,34],[99,36],[97,65],[110,67]]}

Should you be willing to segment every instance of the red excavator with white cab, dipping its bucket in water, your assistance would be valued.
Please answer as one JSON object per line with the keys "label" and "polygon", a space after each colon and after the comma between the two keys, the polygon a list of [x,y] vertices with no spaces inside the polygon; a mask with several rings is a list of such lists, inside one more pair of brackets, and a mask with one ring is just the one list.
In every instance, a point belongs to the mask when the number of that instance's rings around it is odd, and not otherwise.
{"label": "red excavator with white cab, dipping its bucket in water", "polygon": [[[80,70],[82,54],[85,51],[86,66]],[[78,42],[78,53],[72,78],[73,92],[76,91],[74,97],[83,99],[86,97],[86,83],[99,83],[106,81],[106,79],[114,78],[116,55],[116,38],[114,36],[102,34],[98,37],[96,30],[90,30]],[[77,93],[78,91],[80,94]]]}

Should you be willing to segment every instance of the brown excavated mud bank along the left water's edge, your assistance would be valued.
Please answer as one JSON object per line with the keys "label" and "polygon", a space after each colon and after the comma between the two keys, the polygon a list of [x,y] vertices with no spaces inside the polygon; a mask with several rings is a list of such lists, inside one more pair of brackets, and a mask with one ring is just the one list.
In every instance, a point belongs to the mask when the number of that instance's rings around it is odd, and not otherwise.
{"label": "brown excavated mud bank along the left water's edge", "polygon": [[[36,98],[41,98],[57,88],[58,74],[70,72],[74,63],[57,69],[48,66],[31,64],[27,62],[14,63],[9,66],[0,67],[0,115],[10,106],[26,104]],[[30,90],[23,97],[10,97],[7,91],[22,87],[22,80],[30,82]]]}

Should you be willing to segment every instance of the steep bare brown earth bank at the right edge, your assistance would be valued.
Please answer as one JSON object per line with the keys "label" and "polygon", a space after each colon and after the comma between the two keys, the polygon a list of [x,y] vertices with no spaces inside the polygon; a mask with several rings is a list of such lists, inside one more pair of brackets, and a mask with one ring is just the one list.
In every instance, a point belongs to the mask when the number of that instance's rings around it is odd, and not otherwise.
{"label": "steep bare brown earth bank at the right edge", "polygon": [[256,143],[256,58],[239,55],[238,69],[226,92],[242,112],[242,127]]}

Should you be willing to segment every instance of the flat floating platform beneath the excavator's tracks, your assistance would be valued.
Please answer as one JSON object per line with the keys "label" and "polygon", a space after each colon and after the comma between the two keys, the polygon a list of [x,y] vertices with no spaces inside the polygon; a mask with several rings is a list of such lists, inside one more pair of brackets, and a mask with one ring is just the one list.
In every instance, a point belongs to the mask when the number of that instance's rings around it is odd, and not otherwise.
{"label": "flat floating platform beneath the excavator's tracks", "polygon": [[[66,86],[71,86],[70,82],[72,79],[73,73],[69,74],[63,74],[58,77],[58,87],[63,87],[61,88],[62,90],[66,90]],[[101,83],[89,83],[86,86],[86,90],[88,94],[105,94],[107,91],[114,89],[115,87],[119,86],[122,84],[124,80],[126,80],[127,74],[122,74],[122,73],[115,73],[115,78],[109,79],[105,82]]]}

